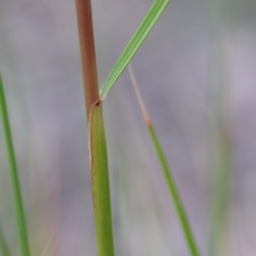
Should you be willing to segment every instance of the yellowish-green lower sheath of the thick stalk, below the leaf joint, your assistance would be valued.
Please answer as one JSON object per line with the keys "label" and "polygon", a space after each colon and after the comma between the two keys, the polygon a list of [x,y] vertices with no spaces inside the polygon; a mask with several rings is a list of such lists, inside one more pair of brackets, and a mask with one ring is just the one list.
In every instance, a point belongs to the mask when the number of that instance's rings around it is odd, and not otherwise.
{"label": "yellowish-green lower sheath of the thick stalk, below the leaf joint", "polygon": [[108,181],[108,154],[102,102],[90,108],[90,169],[96,222],[98,256],[113,256],[113,231]]}

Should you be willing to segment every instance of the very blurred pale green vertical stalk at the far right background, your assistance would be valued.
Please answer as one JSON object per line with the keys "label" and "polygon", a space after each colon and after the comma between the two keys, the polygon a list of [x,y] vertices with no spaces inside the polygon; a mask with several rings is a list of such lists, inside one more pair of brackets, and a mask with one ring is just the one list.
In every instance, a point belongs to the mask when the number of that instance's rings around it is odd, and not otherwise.
{"label": "very blurred pale green vertical stalk at the far right background", "polygon": [[[233,172],[233,59],[235,53],[232,50],[236,33],[236,0],[224,0],[212,2],[214,15],[212,14],[212,94],[218,105],[211,104],[209,108],[215,108],[216,133],[216,165],[214,166],[213,195],[212,195],[212,223],[210,233],[209,255],[225,256],[232,251],[232,194],[234,191]],[[235,23],[234,23],[235,22]],[[214,77],[213,77],[214,76]],[[216,79],[217,78],[217,79]],[[213,102],[212,102],[213,103]],[[216,132],[215,131],[215,132]],[[211,134],[209,134],[212,137]],[[212,153],[211,153],[212,154]]]}

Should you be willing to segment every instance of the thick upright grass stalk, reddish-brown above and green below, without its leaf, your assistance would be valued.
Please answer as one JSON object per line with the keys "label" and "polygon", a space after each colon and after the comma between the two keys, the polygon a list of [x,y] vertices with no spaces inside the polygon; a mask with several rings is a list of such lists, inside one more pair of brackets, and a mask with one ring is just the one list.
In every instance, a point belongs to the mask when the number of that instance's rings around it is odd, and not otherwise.
{"label": "thick upright grass stalk, reddish-brown above and green below, without its leaf", "polygon": [[84,96],[89,130],[90,171],[99,256],[113,256],[113,230],[108,155],[99,100],[96,53],[93,36],[90,0],[76,0],[81,61],[84,77]]}

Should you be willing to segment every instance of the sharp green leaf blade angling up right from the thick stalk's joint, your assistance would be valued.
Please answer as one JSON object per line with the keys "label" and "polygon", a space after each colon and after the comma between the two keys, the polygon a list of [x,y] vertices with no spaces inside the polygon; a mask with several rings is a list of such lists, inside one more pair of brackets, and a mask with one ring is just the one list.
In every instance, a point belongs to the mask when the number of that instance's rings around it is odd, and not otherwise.
{"label": "sharp green leaf blade angling up right from the thick stalk's joint", "polygon": [[143,44],[144,40],[147,38],[148,33],[154,27],[156,21],[160,18],[163,11],[166,9],[167,4],[170,0],[155,0],[151,9],[149,9],[148,14],[145,16],[142,24],[138,27],[137,32],[131,38],[130,43],[126,46],[124,52],[119,57],[119,60],[113,67],[112,72],[109,74],[108,79],[103,84],[100,90],[100,96],[103,100],[108,91],[112,88],[113,84],[119,79],[121,73],[124,72],[125,67],[131,61],[132,57],[136,54],[137,50]]}

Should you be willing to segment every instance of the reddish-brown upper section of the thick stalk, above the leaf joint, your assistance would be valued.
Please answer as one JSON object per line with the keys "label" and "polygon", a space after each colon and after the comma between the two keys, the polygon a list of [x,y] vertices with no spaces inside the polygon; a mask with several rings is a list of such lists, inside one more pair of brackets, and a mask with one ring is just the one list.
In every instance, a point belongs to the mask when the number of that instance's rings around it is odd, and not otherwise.
{"label": "reddish-brown upper section of the thick stalk, above the leaf joint", "polygon": [[90,0],[76,0],[82,72],[84,79],[84,98],[87,122],[90,107],[99,99],[96,70],[96,52],[93,36]]}

